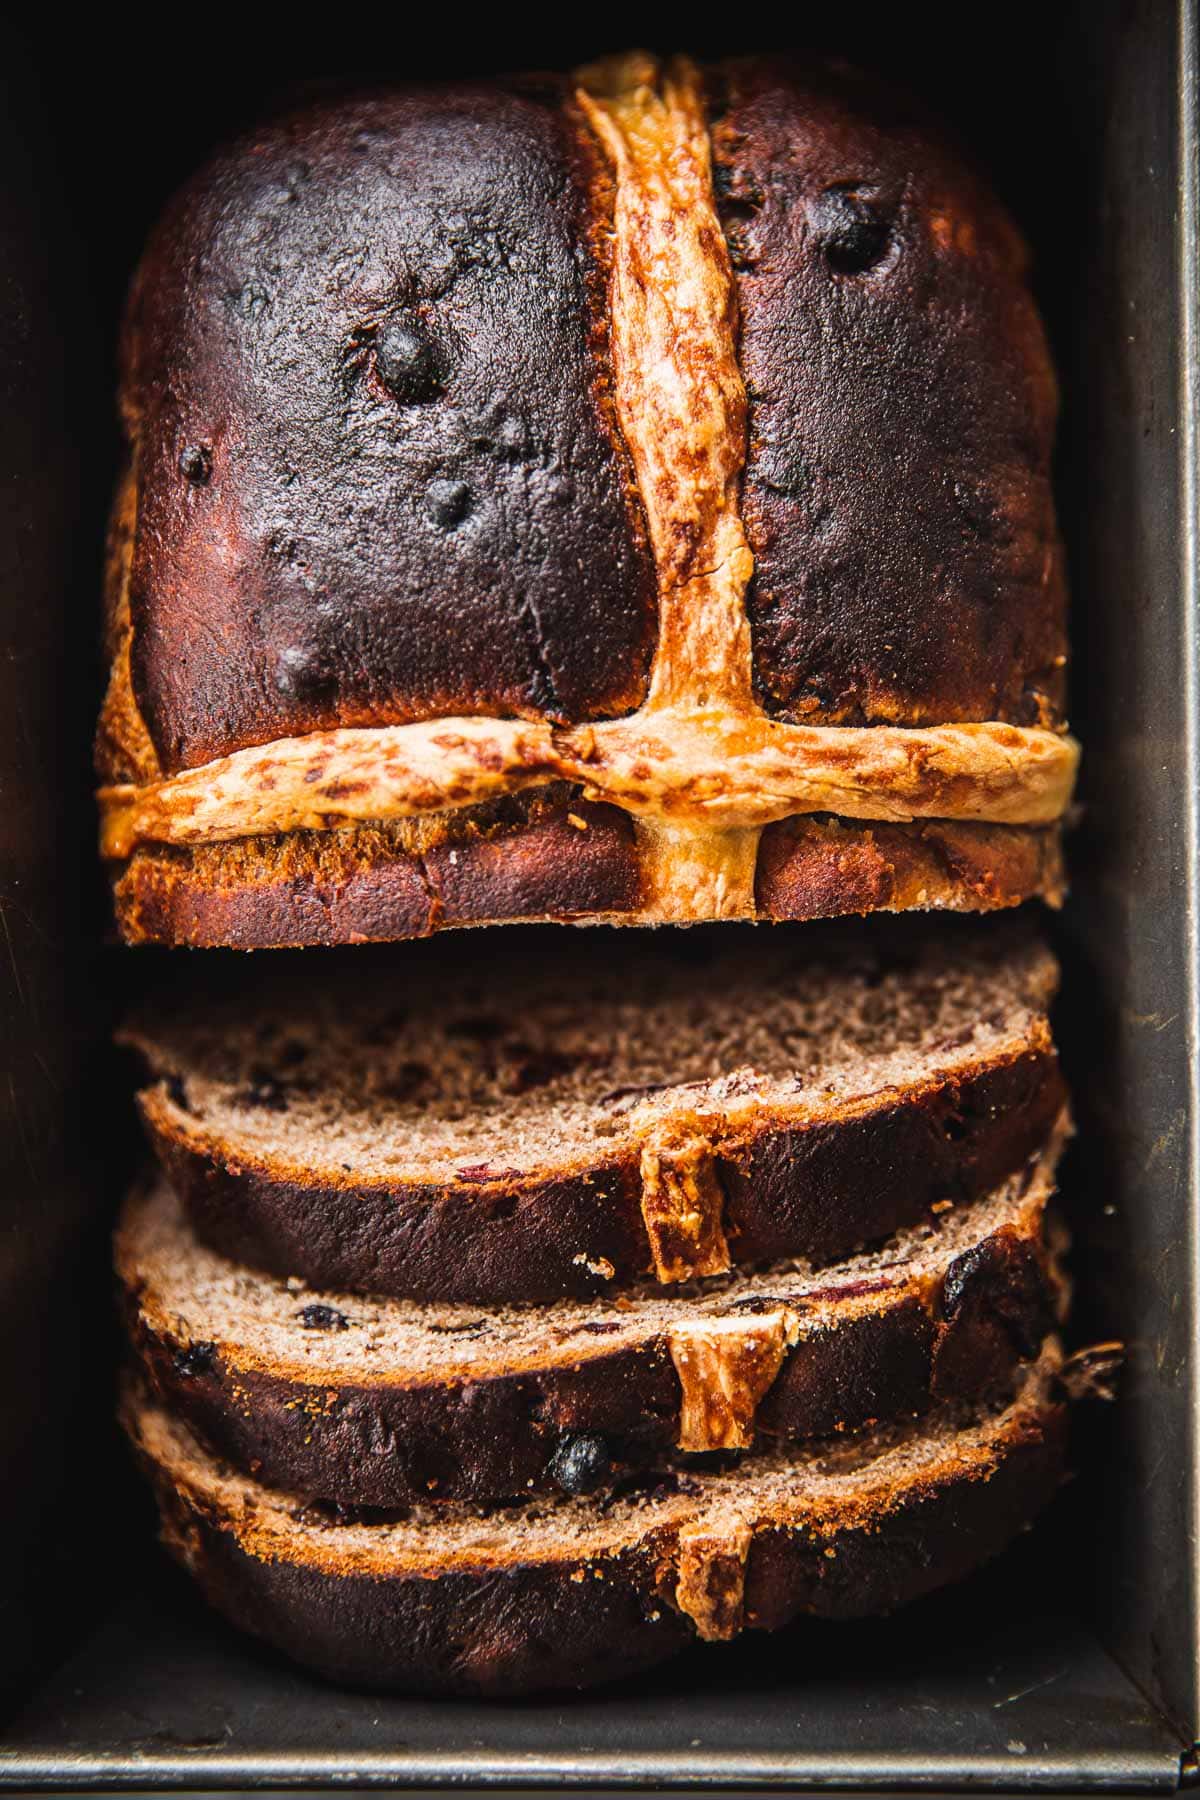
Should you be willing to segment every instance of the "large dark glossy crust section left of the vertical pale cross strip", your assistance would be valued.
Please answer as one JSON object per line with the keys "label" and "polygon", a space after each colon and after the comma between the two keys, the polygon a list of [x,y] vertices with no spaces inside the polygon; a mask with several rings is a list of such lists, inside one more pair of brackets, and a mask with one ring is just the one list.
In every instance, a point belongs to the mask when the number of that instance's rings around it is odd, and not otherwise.
{"label": "large dark glossy crust section left of the vertical pale cross strip", "polygon": [[153,234],[122,412],[164,772],[331,725],[640,702],[657,587],[610,394],[612,180],[569,94],[309,108]]}

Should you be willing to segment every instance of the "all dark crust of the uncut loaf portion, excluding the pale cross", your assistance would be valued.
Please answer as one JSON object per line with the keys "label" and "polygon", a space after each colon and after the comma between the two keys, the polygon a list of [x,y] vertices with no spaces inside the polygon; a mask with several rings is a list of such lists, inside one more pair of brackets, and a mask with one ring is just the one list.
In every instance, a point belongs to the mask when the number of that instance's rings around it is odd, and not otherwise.
{"label": "all dark crust of the uncut loaf portion, excluding the pale cross", "polygon": [[[725,65],[711,130],[757,700],[815,724],[1061,724],[1056,396],[1016,232],[903,97],[842,68]],[[326,725],[644,700],[658,607],[615,419],[613,218],[567,77],[333,101],[196,176],[126,322],[108,778]],[[847,225],[864,266],[838,263]],[[389,322],[432,333],[416,400],[383,380]],[[502,832],[488,810],[146,844],[115,871],[119,931],[255,949],[655,920],[669,880],[628,821],[581,833],[538,808]],[[754,905],[1061,891],[1056,828],[802,819],[765,833]]]}

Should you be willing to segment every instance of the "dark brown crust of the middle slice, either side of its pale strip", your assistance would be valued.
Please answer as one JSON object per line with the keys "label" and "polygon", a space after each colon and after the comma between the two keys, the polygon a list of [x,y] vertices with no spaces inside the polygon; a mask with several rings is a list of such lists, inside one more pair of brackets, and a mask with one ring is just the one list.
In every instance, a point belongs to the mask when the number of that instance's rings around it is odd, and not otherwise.
{"label": "dark brown crust of the middle slice, either side of its pale strip", "polygon": [[[889,1300],[880,1282],[878,1307],[833,1316],[784,1352],[756,1415],[759,1442],[1004,1395],[1052,1325],[1054,1282],[1040,1240],[1002,1226],[927,1292]],[[554,1485],[549,1462],[578,1433],[604,1438],[615,1474],[676,1454],[682,1391],[666,1334],[520,1373],[335,1388],[245,1368],[219,1343],[198,1352],[153,1323],[153,1294],[148,1312],[128,1291],[130,1339],[166,1409],[221,1460],[291,1494],[383,1508],[522,1499]]]}

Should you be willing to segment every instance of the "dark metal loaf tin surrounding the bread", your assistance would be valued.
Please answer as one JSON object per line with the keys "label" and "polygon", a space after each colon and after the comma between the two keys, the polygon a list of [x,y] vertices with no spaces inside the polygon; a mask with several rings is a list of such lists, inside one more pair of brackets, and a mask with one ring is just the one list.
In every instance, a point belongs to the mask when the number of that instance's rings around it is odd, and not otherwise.
{"label": "dark metal loaf tin surrounding the bread", "polygon": [[533,1705],[329,1690],[228,1633],[149,1548],[108,1426],[104,1238],[135,1145],[104,1039],[162,959],[101,945],[86,749],[122,281],[205,144],[293,76],[567,65],[646,40],[720,54],[784,36],[775,18],[732,18],[705,43],[696,16],[669,7],[608,9],[587,32],[437,23],[417,40],[410,20],[360,14],[338,23],[336,58],[315,45],[308,59],[282,25],[252,43],[200,9],[176,14],[171,38],[126,14],[121,41],[88,38],[61,14],[5,43],[0,1786],[1200,1782],[1198,49],[1195,11],[1175,0],[804,20],[804,41],[896,68],[973,142],[1034,243],[1063,374],[1087,745],[1076,891],[1056,925],[1081,1116],[1067,1201],[1081,1330],[1128,1345],[1117,1402],[1083,1420],[1079,1480],[997,1568],[894,1620],[747,1638]]}

